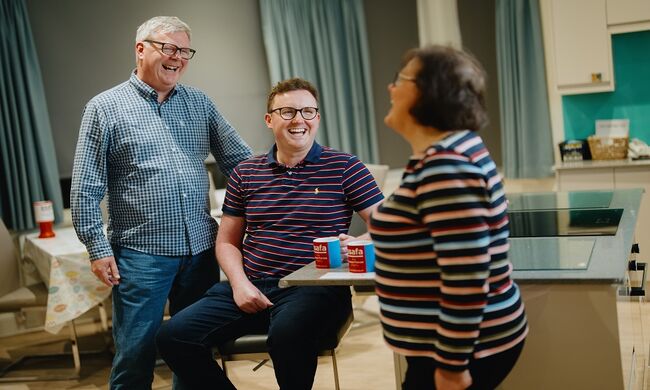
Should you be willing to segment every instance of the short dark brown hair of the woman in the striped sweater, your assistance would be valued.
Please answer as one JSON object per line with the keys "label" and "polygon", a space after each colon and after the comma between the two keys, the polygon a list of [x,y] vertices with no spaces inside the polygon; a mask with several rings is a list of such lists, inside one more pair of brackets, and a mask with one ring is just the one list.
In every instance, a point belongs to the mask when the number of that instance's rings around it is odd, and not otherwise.
{"label": "short dark brown hair of the woman in the striped sweater", "polygon": [[409,50],[404,64],[417,58],[415,83],[420,97],[410,113],[438,130],[480,130],[488,123],[485,70],[474,56],[448,46]]}

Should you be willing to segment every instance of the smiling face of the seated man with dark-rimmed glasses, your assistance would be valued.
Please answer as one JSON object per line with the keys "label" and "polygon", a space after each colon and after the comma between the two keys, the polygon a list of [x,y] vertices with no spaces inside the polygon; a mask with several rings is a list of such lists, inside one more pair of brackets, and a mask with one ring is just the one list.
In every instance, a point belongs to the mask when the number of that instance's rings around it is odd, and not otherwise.
{"label": "smiling face of the seated man with dark-rimmed glasses", "polygon": [[[273,98],[271,110],[281,107],[292,107],[302,109],[304,107],[318,107],[316,98],[307,90],[300,89],[279,93]],[[300,112],[296,112],[293,119],[284,119],[280,116],[279,111],[274,111],[264,115],[266,126],[273,130],[275,143],[278,147],[278,159],[282,163],[288,163],[282,160],[282,156],[295,156],[303,154],[303,158],[309,153],[318,126],[320,124],[320,114],[311,120],[306,120]]]}

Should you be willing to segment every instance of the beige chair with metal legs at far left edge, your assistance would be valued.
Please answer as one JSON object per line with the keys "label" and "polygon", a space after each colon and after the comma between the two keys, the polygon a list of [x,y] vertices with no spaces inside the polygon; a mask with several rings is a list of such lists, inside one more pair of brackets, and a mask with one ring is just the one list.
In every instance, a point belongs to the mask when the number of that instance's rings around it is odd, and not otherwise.
{"label": "beige chair with metal legs at far left edge", "polygon": [[[17,313],[18,319],[24,318],[24,310],[27,308],[47,308],[47,287],[43,282],[32,284],[30,286],[13,288],[16,282],[19,281],[18,261],[16,246],[7,230],[2,219],[0,219],[0,275],[5,280],[0,284],[0,313]],[[9,288],[12,288],[10,291]],[[0,370],[0,383],[7,382],[27,382],[27,381],[46,381],[46,380],[66,380],[79,378],[81,371],[81,363],[79,357],[79,348],[77,346],[77,331],[74,323],[70,321],[70,343],[72,346],[72,358],[74,368],[72,373],[66,370],[66,374],[52,373],[47,375],[38,376],[22,376],[5,378],[10,370],[16,368],[18,365],[27,359],[37,357],[56,357],[59,355],[69,356],[69,354],[42,354],[42,355],[27,355],[23,356],[13,362],[9,362],[7,366]]]}

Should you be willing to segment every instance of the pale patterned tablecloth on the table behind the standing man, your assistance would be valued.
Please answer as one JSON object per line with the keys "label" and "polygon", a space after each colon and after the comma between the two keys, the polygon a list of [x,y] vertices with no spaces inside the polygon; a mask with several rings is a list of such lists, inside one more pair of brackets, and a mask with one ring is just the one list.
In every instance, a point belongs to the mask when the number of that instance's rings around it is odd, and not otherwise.
{"label": "pale patterned tablecloth on the table behind the standing man", "polygon": [[61,328],[111,294],[111,289],[90,271],[86,248],[73,228],[55,230],[52,238],[25,238],[23,256],[30,259],[48,286],[45,330],[58,333]]}

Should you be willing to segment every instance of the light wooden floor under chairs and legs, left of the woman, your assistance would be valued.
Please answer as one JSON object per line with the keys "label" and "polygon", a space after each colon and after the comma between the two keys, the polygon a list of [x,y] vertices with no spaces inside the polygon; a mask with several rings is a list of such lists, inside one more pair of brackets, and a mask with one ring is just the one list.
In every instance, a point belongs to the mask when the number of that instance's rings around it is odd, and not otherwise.
{"label": "light wooden floor under chairs and legs, left of the woman", "polygon": [[[393,355],[384,345],[381,327],[377,318],[376,297],[365,300],[355,298],[355,324],[341,342],[337,350],[337,363],[340,386],[345,390],[394,389]],[[79,340],[82,349],[101,350],[105,345],[101,335],[96,334],[98,326],[80,327],[80,333],[87,335]],[[88,335],[89,334],[89,335]],[[51,340],[45,333],[33,333],[19,337],[0,339],[0,361],[11,354],[12,358],[30,352],[29,346]],[[59,340],[65,339],[65,330],[61,331]],[[51,351],[69,350],[65,341],[48,346],[39,345]],[[33,348],[32,350],[33,351]],[[1,364],[1,363],[0,363]],[[228,363],[229,375],[238,389],[263,390],[277,389],[275,375],[270,364],[252,371],[257,362],[240,361]],[[20,369],[12,371],[7,377],[16,375],[33,375],[59,372],[72,367],[71,357],[57,359],[34,359],[26,362]],[[82,356],[81,378],[78,380],[0,383],[3,390],[54,390],[54,389],[108,389],[107,381],[111,367],[111,355],[104,351]],[[153,383],[154,389],[171,389],[171,372],[164,366],[156,367]],[[334,388],[332,361],[328,357],[319,358],[314,389],[330,390]]]}

